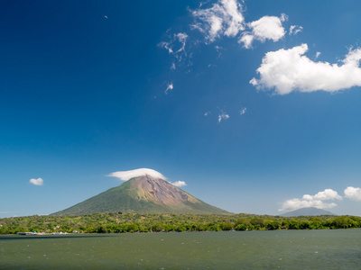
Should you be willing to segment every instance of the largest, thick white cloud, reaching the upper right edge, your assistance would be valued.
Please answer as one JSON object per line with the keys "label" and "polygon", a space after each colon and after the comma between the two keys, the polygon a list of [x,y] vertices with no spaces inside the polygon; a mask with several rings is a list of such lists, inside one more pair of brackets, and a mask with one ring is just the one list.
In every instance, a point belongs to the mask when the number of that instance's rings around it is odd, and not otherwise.
{"label": "largest, thick white cloud, reaching the upper right edge", "polygon": [[353,86],[361,86],[361,49],[350,49],[342,65],[314,62],[304,56],[307,44],[292,49],[267,52],[257,68],[260,78],[250,84],[257,88],[274,88],[277,94],[292,91],[336,92]]}

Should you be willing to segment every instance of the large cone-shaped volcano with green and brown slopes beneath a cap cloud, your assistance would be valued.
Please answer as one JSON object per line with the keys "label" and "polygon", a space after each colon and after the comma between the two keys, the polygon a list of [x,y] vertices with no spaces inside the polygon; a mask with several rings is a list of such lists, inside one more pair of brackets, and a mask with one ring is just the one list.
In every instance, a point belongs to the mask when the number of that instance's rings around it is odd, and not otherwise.
{"label": "large cone-shaped volcano with green and brown slopes beneath a cap cloud", "polygon": [[230,214],[202,202],[177,186],[150,175],[134,177],[53,215],[81,215],[94,212]]}

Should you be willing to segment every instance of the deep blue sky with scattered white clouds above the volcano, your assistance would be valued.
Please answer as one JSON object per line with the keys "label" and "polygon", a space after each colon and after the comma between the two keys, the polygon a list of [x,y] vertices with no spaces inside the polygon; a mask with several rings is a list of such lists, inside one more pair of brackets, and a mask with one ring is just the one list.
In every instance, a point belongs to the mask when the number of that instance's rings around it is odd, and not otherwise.
{"label": "deep blue sky with scattered white clouds above the volcano", "polygon": [[1,5],[0,217],[143,167],[227,211],[361,215],[359,1]]}

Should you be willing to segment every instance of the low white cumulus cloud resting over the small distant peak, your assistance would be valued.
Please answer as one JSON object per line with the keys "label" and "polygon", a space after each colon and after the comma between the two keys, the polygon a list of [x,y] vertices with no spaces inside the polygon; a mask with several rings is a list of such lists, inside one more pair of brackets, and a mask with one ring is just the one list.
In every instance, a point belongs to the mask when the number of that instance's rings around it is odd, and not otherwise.
{"label": "low white cumulus cloud resting over the small distant peak", "polygon": [[338,206],[335,202],[323,202],[331,200],[342,200],[342,197],[332,189],[325,189],[315,195],[305,194],[302,199],[291,199],[282,202],[282,208],[278,211],[293,211],[304,207],[316,207],[319,209],[333,208]]}

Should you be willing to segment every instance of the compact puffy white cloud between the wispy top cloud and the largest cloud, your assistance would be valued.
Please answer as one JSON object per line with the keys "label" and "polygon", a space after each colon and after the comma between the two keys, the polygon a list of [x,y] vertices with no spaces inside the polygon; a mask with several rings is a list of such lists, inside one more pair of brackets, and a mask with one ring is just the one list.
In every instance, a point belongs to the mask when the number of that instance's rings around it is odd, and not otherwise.
{"label": "compact puffy white cloud between the wispy top cloud and the largest cloud", "polygon": [[285,14],[281,17],[264,16],[258,21],[247,23],[251,32],[245,31],[239,42],[243,42],[245,49],[252,48],[253,40],[273,40],[273,42],[281,40],[285,34],[282,22],[285,20]]}

